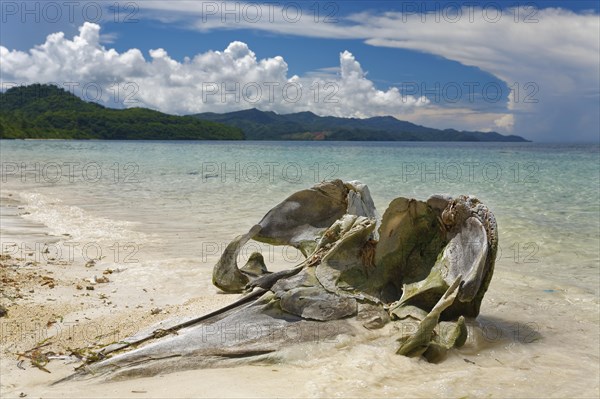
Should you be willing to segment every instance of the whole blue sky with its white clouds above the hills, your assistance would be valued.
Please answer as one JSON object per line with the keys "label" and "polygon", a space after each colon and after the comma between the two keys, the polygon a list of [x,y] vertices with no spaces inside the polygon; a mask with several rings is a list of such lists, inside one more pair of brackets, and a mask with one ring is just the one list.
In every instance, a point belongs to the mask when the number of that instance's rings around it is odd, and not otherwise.
{"label": "whole blue sky with its white clouds above the hills", "polygon": [[[3,88],[78,82],[103,89],[92,100],[108,106],[176,114],[391,114],[535,141],[599,140],[598,1],[1,3]],[[302,98],[263,101],[273,81],[301,85]],[[261,101],[246,101],[250,91],[222,97],[236,82],[262,87]]]}

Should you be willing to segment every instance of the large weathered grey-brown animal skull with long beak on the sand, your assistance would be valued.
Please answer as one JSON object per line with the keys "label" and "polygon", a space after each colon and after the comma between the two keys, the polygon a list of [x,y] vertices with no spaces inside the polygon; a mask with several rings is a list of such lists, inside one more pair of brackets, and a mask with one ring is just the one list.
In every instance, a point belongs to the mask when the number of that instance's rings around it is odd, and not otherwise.
{"label": "large weathered grey-brown animal skull with long beak on the sand", "polygon": [[[386,323],[417,323],[390,348],[441,361],[467,338],[489,286],[498,245],[489,209],[472,196],[396,198],[379,220],[360,182],[323,182],[299,191],[236,237],[213,271],[225,292],[250,292],[222,312],[172,325],[146,346],[86,365],[70,378],[129,378],[170,370],[281,360],[281,348],[318,334],[357,336]],[[260,254],[241,269],[250,239],[300,249],[306,259],[270,273]],[[289,332],[294,330],[293,334]],[[161,330],[164,332],[165,330]],[[157,331],[102,352],[152,341]]]}

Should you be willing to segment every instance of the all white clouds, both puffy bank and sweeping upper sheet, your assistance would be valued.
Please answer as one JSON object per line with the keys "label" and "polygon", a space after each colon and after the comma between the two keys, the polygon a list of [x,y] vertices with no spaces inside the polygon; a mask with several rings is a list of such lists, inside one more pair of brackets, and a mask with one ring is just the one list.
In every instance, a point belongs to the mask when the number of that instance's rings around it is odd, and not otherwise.
{"label": "all white clouds, both puffy bank and sweeping upper sheet", "polygon": [[[147,54],[135,47],[117,52],[105,46],[118,37],[101,34],[100,25],[88,22],[72,39],[57,32],[28,51],[9,50],[0,43],[0,79],[4,86],[78,82],[81,90],[93,84],[87,99],[95,99],[98,86],[102,98],[97,100],[105,105],[143,106],[175,114],[258,108],[358,118],[392,115],[425,126],[495,130],[534,141],[598,140],[597,13],[546,8],[531,14],[513,8],[507,10],[510,18],[494,20],[489,12],[470,7],[462,8],[462,17],[455,20],[436,19],[431,13],[361,11],[339,15],[335,23],[319,23],[311,16],[290,23],[273,5],[273,18],[231,24],[218,13],[207,14],[205,3],[156,1],[144,3],[141,11],[144,18],[199,35],[251,29],[359,40],[372,47],[432,54],[479,68],[511,92],[486,104],[481,98],[471,103],[447,101],[443,96],[440,100],[401,86],[378,89],[373,80],[377,77],[371,79],[350,51],[339,53],[338,66],[323,65],[303,76],[290,76],[286,60],[276,52],[257,58],[243,41],[181,61],[169,56],[168,48]],[[465,82],[450,83],[463,89],[462,97],[470,95]],[[476,90],[481,94],[481,87]]]}

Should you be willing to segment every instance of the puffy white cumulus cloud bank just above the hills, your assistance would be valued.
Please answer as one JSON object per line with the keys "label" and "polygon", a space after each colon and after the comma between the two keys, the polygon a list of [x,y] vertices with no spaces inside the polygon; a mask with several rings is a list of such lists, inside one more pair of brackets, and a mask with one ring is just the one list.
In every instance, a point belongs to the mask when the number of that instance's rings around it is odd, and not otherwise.
{"label": "puffy white cumulus cloud bank just above the hills", "polygon": [[72,39],[62,32],[28,52],[0,46],[1,80],[12,84],[54,83],[84,99],[109,106],[143,106],[167,113],[228,112],[256,107],[279,113],[368,117],[402,114],[428,104],[378,90],[348,51],[339,73],[288,76],[280,56],[258,59],[247,44],[234,41],[223,51],[207,51],[182,62],[168,49],[119,53],[100,42],[100,26],[84,23]]}

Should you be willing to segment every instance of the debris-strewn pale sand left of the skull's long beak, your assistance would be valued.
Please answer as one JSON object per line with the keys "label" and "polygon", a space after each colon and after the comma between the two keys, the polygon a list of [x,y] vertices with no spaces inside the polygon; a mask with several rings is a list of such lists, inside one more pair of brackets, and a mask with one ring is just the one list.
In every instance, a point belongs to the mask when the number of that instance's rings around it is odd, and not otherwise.
{"label": "debris-strewn pale sand left of the skull's long beak", "polygon": [[[238,298],[206,293],[170,305],[160,300],[155,303],[156,288],[131,285],[120,278],[127,269],[81,257],[56,259],[43,252],[40,256],[36,244],[52,245],[65,237],[50,235],[45,226],[22,218],[23,209],[18,201],[2,198],[0,306],[6,310],[0,318],[3,398],[23,397],[21,393],[48,397],[50,391],[55,392],[53,397],[83,397],[88,385],[96,384],[74,384],[85,386],[81,391],[72,391],[73,384],[56,389],[48,384],[72,374],[83,364],[80,357],[94,349],[152,331],[163,322],[197,317]],[[13,244],[17,244],[16,249]],[[118,396],[126,397],[128,386],[121,385]],[[98,387],[97,393],[101,391]],[[136,392],[129,393],[139,397]]]}

